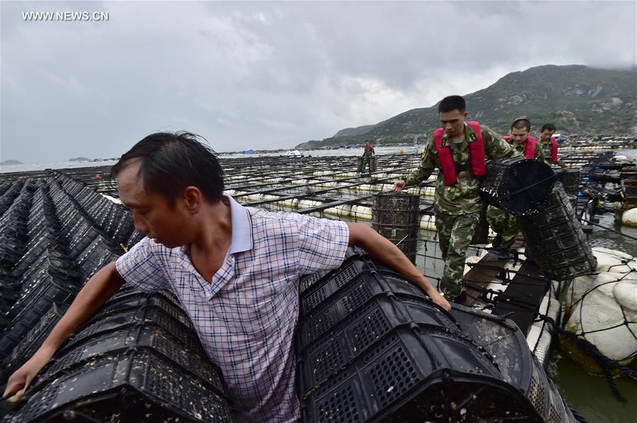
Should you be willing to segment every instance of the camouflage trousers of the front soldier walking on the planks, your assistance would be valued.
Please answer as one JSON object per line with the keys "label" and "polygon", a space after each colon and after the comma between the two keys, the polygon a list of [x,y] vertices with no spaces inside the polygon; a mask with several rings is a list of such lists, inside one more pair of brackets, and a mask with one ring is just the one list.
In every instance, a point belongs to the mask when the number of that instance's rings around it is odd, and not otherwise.
{"label": "camouflage trousers of the front soldier walking on the planks", "polygon": [[479,219],[479,213],[436,213],[436,230],[444,260],[440,291],[447,299],[453,299],[462,292],[467,249]]}

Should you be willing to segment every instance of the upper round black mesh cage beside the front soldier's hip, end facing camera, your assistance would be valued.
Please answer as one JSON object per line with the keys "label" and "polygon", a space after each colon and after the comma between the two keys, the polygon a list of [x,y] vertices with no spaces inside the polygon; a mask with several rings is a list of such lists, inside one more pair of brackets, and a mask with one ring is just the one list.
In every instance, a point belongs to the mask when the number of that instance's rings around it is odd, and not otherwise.
{"label": "upper round black mesh cage beside the front soldier's hip, end facing camera", "polygon": [[488,204],[514,214],[541,212],[555,183],[555,173],[533,158],[498,158],[487,161],[487,174],[480,181],[480,194]]}

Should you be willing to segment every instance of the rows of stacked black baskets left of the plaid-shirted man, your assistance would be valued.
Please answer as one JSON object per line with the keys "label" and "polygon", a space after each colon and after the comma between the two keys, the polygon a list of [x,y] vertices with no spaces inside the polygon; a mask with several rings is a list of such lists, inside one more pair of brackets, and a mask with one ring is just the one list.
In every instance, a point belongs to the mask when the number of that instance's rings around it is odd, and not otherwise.
{"label": "rows of stacked black baskets left of the plaid-shirted man", "polygon": [[[55,178],[0,185],[1,383],[60,321],[81,286],[143,234],[130,212]],[[2,410],[3,412],[5,410]],[[7,422],[227,422],[222,375],[179,301],[125,286],[31,383]]]}

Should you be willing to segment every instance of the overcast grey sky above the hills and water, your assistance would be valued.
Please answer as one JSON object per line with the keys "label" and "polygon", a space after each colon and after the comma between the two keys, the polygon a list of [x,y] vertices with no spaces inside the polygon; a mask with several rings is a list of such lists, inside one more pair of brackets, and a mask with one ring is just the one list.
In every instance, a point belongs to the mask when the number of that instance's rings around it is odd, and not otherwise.
{"label": "overcast grey sky above the hills and water", "polygon": [[[185,129],[291,148],[542,64],[636,64],[635,1],[1,1],[0,160]],[[108,13],[28,21],[23,12]],[[101,15],[103,16],[103,15]]]}

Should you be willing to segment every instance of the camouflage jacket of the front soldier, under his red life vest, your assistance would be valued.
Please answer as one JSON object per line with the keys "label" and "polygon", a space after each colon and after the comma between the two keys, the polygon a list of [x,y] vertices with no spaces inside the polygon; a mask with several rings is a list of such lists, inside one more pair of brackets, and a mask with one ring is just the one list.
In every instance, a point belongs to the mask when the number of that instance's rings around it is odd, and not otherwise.
{"label": "camouflage jacket of the front soldier, under his red life vest", "polygon": [[[500,135],[491,129],[480,125],[483,145],[485,147],[485,159],[519,156],[515,149],[507,144]],[[451,156],[456,165],[466,165],[469,162],[469,141],[476,139],[473,129],[465,123],[465,139],[461,142],[451,142],[447,134],[442,137],[443,146],[451,146]],[[434,136],[429,137],[424,148],[422,158],[416,170],[407,176],[406,185],[413,185],[427,180],[435,168],[440,169],[440,160],[434,143]],[[445,185],[442,170],[436,179],[434,193],[434,211],[444,214],[470,214],[478,213],[482,209],[480,198],[480,180],[475,178],[470,170],[458,173],[457,182],[454,185]]]}

